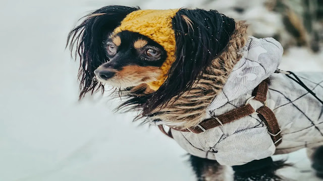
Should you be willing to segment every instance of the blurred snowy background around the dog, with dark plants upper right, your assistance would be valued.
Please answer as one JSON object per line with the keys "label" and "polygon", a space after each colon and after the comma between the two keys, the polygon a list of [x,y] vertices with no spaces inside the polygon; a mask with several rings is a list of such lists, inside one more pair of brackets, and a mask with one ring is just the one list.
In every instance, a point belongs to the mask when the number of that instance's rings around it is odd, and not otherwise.
{"label": "blurred snowy background around the dog, with dark plants upper right", "polygon": [[[0,180],[195,180],[185,151],[157,128],[113,113],[107,96],[78,101],[78,63],[65,50],[82,16],[107,5],[215,9],[274,37],[281,69],[323,71],[321,0],[0,1]],[[276,156],[294,180],[319,180],[305,151]]]}

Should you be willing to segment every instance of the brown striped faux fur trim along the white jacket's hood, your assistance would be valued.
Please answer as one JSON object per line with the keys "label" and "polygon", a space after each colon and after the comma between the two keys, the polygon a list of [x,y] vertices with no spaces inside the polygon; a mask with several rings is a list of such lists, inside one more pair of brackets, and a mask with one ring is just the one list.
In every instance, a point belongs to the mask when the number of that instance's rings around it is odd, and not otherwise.
{"label": "brown striped faux fur trim along the white jacket's hood", "polygon": [[170,126],[181,126],[183,129],[196,126],[205,119],[206,108],[222,90],[234,65],[242,58],[241,49],[247,41],[247,25],[236,22],[236,30],[228,48],[202,74],[199,81],[178,100],[172,100],[162,109],[153,112],[149,119],[163,120]]}

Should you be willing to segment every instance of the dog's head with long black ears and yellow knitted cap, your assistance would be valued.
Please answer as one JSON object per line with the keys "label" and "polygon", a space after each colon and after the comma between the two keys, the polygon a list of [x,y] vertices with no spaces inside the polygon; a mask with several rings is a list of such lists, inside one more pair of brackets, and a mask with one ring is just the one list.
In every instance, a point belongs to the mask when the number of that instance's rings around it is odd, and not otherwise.
{"label": "dog's head with long black ears and yellow knitted cap", "polygon": [[154,109],[187,91],[225,50],[234,30],[233,19],[213,10],[103,7],[68,37],[80,57],[80,98],[105,83],[147,84],[153,92],[143,102]]}

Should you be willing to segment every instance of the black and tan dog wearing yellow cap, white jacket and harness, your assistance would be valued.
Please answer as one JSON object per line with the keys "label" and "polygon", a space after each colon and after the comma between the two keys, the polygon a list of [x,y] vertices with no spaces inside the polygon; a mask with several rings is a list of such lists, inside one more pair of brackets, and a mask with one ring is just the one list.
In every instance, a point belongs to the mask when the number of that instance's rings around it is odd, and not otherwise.
{"label": "black and tan dog wearing yellow cap, white jacket and harness", "polygon": [[[291,152],[306,145],[310,145],[309,147],[314,150],[312,154],[314,156],[311,156],[313,167],[321,173],[323,162],[320,161],[322,158],[320,147],[323,140],[318,137],[323,129],[320,127],[321,117],[308,127],[315,128],[316,131],[310,132],[311,135],[306,135],[304,140],[299,139],[300,145],[295,148],[293,146],[296,143],[289,141],[288,135],[284,133],[294,132],[297,126],[282,129],[283,132],[277,128],[278,131],[268,134],[271,126],[267,125],[266,116],[261,117],[265,114],[259,111],[259,117],[250,116],[258,109],[249,106],[253,99],[258,101],[257,96],[251,97],[251,95],[257,93],[257,89],[261,89],[259,88],[261,82],[266,80],[262,84],[268,84],[270,96],[260,102],[267,107],[268,101],[268,108],[272,106],[272,110],[287,109],[289,105],[295,106],[293,100],[278,93],[282,92],[279,86],[281,82],[284,82],[287,88],[296,85],[285,76],[290,76],[290,73],[281,71],[274,75],[283,53],[279,42],[272,38],[249,37],[246,32],[245,22],[235,22],[234,19],[214,10],[186,8],[140,10],[124,6],[103,7],[85,16],[85,20],[68,36],[67,46],[70,46],[71,52],[76,47],[75,57],[78,56],[80,59],[79,98],[83,98],[86,93],[104,91],[104,84],[116,87],[119,93],[117,95],[124,98],[117,110],[139,111],[136,120],[158,125],[163,133],[174,138],[191,154],[190,162],[198,180],[232,179],[225,173],[228,166],[233,166],[235,180],[281,180],[275,171],[288,164],[283,161],[274,162],[270,156]],[[322,75],[315,75],[317,80],[315,78],[309,80],[307,74],[302,75],[299,81],[312,81],[313,87],[310,87],[312,89],[323,88],[319,82]],[[237,79],[243,80],[243,83],[237,83]],[[247,84],[250,87],[246,86]],[[243,90],[243,93],[235,94],[233,91],[237,88],[239,91]],[[310,97],[313,94],[308,94],[311,90],[308,91],[307,87],[304,93],[302,88],[299,86],[297,89],[295,95],[302,95],[297,97],[297,100],[311,99],[311,104],[318,108],[319,98],[313,101]],[[273,96],[274,93],[277,93],[278,98]],[[224,97],[226,102],[219,106]],[[247,114],[247,117],[235,118],[228,123],[219,119],[219,115],[232,110],[232,107],[242,106],[241,100],[250,102],[246,106],[248,105],[248,109],[252,112]],[[273,100],[287,100],[288,106],[277,106],[283,104],[278,101],[275,107],[270,104]],[[314,113],[319,115],[317,110]],[[283,118],[284,115],[275,114],[275,116],[279,116],[278,124],[282,126],[284,120],[279,118]],[[302,119],[303,117],[306,119],[308,115],[304,113]],[[205,120],[218,121],[219,125],[205,129],[201,126]],[[245,125],[246,121],[250,123]],[[294,124],[293,120],[290,122]],[[169,132],[164,130],[163,125],[171,128]],[[234,133],[229,133],[231,131],[228,131],[227,125],[235,127]],[[287,126],[284,123],[281,128],[285,127]],[[252,134],[245,130],[252,131]],[[219,132],[221,134],[218,134]],[[303,133],[302,130],[296,132]],[[284,134],[283,137],[281,133]],[[213,135],[210,139],[216,141],[207,140],[209,134]],[[251,140],[259,139],[259,144],[252,145],[248,142],[249,136],[252,137]],[[316,136],[317,139],[308,140]],[[246,142],[238,143],[236,141],[238,137],[239,140],[241,138]],[[240,147],[231,146],[239,149],[224,148],[227,145],[224,142],[228,143],[230,140]],[[282,140],[284,144],[280,144]],[[223,146],[219,146],[221,144]],[[291,147],[282,148],[284,146]],[[246,151],[249,148],[254,152]],[[234,152],[230,152],[232,150]],[[242,156],[242,153],[248,155]]]}

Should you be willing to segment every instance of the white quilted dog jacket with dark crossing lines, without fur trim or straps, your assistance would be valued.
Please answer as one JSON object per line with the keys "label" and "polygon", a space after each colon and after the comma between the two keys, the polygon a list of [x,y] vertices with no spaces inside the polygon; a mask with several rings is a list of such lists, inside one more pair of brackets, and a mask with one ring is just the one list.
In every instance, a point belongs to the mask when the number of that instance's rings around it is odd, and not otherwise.
{"label": "white quilted dog jacket with dark crossing lines, without fur trim or straps", "polygon": [[[273,38],[250,37],[242,52],[223,91],[208,106],[206,118],[245,105],[253,89],[269,78],[267,104],[282,130],[282,143],[276,147],[265,124],[252,114],[205,133],[172,130],[179,145],[190,154],[230,166],[323,145],[323,105],[285,74],[274,73],[283,54],[281,44]],[[323,100],[323,72],[296,74]],[[250,104],[255,110],[262,106],[254,100]]]}

